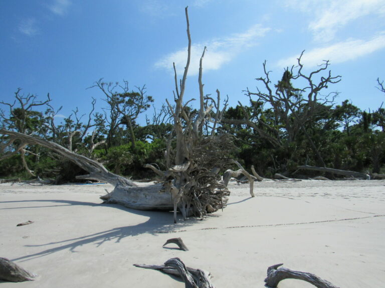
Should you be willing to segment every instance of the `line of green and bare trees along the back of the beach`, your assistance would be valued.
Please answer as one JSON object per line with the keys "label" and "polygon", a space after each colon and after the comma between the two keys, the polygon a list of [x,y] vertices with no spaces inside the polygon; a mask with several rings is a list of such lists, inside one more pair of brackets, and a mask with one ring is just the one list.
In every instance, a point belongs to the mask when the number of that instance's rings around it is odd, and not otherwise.
{"label": "line of green and bare trees along the back of the beach", "polygon": [[[304,164],[363,173],[383,172],[385,109],[381,105],[374,111],[362,111],[349,100],[337,103],[338,93],[328,91],[341,77],[332,75],[328,61],[305,73],[302,54],[298,65],[286,68],[276,83],[272,83],[265,61],[264,75],[256,79],[256,90],[244,91],[249,103],[227,107],[225,100],[223,108],[216,107],[216,114],[212,115],[216,121],[205,122],[201,127],[202,136],[230,135],[237,148],[227,150],[228,156],[246,168],[254,165],[264,177],[275,173],[298,175],[297,167]],[[376,81],[376,88],[385,93],[383,81]],[[154,174],[144,164],[151,163],[159,169],[169,166],[166,147],[175,133],[171,105],[156,109],[145,86],[130,89],[125,80],[119,83],[99,79],[90,88],[102,95],[102,110],[95,111],[93,98],[88,114],[82,114],[76,107],[60,123],[56,115],[62,107],[51,105],[50,94],[39,99],[35,94],[25,95],[19,88],[14,102],[0,102],[0,125],[58,143],[120,175],[151,178]],[[213,103],[219,104],[214,100]],[[152,115],[146,116],[144,125],[139,124],[138,116],[148,115],[151,106]],[[183,119],[200,113],[189,105],[183,105],[183,109],[182,125],[187,125]],[[2,178],[39,176],[64,182],[82,174],[74,163],[42,146],[21,147],[18,141],[12,147],[4,145],[7,137],[1,138]]]}

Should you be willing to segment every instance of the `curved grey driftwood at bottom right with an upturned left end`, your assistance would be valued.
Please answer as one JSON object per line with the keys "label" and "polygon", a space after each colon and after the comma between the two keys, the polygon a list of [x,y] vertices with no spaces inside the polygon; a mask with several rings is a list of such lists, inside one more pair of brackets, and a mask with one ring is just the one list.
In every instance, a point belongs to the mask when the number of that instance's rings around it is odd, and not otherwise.
{"label": "curved grey driftwood at bottom right with an upturned left end", "polygon": [[329,281],[321,279],[320,277],[312,273],[294,271],[283,267],[278,268],[282,265],[282,263],[275,264],[267,268],[267,277],[265,279],[267,287],[277,287],[280,281],[291,278],[309,282],[317,288],[339,288],[330,283]]}

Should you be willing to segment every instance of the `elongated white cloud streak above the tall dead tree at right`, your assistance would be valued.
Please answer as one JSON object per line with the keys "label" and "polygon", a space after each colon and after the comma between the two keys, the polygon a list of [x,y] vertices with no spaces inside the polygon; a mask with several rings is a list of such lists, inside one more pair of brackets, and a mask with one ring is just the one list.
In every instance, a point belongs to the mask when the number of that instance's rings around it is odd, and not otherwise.
{"label": "elongated white cloud streak above the tall dead tree at right", "polygon": [[[341,63],[354,60],[383,48],[385,48],[385,33],[381,33],[369,40],[348,39],[329,46],[305,51],[301,58],[301,63],[307,68],[322,64],[323,60],[330,60],[331,63]],[[277,66],[296,65],[298,63],[298,56],[281,59],[277,62]]]}

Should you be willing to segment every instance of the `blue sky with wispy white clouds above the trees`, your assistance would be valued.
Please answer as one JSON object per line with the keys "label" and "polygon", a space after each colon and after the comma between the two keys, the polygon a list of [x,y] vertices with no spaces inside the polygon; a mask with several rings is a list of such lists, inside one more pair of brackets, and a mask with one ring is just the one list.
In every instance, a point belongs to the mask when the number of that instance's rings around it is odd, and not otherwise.
{"label": "blue sky with wispy white clouds above the trees", "polygon": [[385,0],[1,0],[0,98],[13,101],[21,87],[41,99],[49,92],[63,116],[87,113],[91,97],[104,106],[99,90],[86,89],[103,77],[145,84],[160,107],[173,98],[173,61],[183,74],[186,5],[193,57],[185,99],[199,95],[206,45],[205,93],[218,88],[231,106],[248,102],[242,90],[256,90],[264,60],[275,83],[302,50],[305,71],[330,60],[342,76],[329,86],[337,103],[368,111],[385,100],[375,88],[385,80]]}

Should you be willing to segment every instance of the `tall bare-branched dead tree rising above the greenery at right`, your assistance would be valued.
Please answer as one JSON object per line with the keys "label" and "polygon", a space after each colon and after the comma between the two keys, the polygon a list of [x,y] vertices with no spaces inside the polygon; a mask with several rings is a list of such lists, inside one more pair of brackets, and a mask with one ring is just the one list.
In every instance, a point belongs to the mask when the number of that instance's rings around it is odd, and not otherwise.
{"label": "tall bare-branched dead tree rising above the greenery at right", "polygon": [[[321,92],[328,88],[328,85],[340,81],[340,76],[332,76],[329,70],[325,76],[321,76],[329,68],[329,61],[324,61],[315,71],[305,74],[301,58],[298,58],[298,65],[286,68],[282,79],[277,84],[272,85],[270,72],[263,63],[264,76],[256,78],[263,88],[257,87],[257,91],[245,91],[250,98],[252,113],[239,102],[244,111],[243,119],[224,119],[229,124],[246,124],[253,128],[259,137],[271,143],[274,147],[287,148],[294,142],[297,136],[302,133],[313,150],[317,160],[325,166],[323,158],[319,153],[313,139],[311,138],[308,127],[312,121],[323,112],[322,107],[334,102],[337,92],[330,92],[322,96]],[[319,77],[319,79],[315,79]],[[295,88],[292,80],[303,82],[303,88]],[[271,117],[266,117],[264,105],[268,104]],[[267,120],[268,119],[268,120]],[[282,130],[285,132],[283,133]]]}

